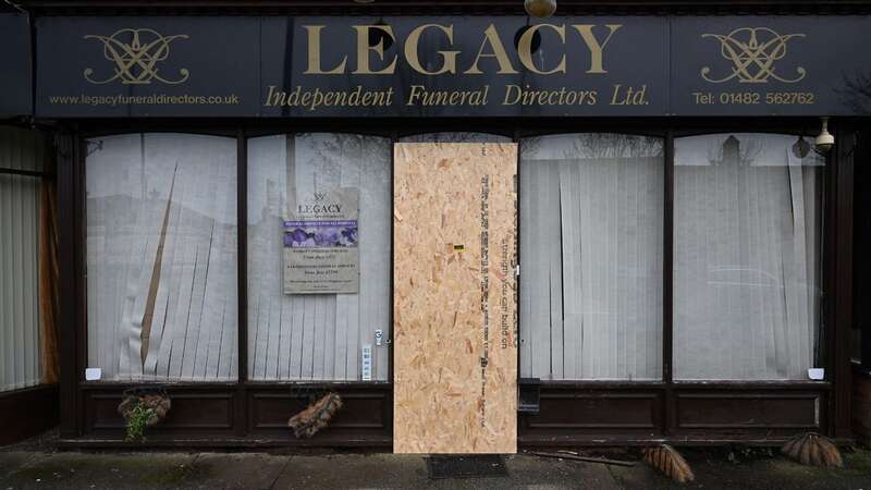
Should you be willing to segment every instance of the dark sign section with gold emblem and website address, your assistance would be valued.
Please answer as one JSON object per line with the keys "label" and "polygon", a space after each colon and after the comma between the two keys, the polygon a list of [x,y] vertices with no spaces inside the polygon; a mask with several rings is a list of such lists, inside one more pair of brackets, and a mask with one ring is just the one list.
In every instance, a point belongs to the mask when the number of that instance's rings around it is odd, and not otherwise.
{"label": "dark sign section with gold emblem and website address", "polygon": [[37,113],[256,113],[259,26],[257,17],[39,17]]}

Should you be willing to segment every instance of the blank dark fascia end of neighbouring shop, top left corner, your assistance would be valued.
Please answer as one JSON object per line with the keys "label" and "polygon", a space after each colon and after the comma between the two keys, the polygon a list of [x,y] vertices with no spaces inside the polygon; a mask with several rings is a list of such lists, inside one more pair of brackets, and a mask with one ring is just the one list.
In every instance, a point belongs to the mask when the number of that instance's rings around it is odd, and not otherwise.
{"label": "blank dark fascia end of neighbouring shop, top left corner", "polygon": [[27,16],[0,14],[0,119],[33,113]]}

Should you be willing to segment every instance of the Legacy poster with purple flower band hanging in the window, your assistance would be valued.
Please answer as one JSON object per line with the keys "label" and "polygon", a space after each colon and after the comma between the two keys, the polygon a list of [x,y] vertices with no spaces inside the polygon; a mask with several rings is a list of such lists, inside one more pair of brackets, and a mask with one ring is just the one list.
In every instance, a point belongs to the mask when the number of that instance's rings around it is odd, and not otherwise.
{"label": "Legacy poster with purple flower band hanging in the window", "polygon": [[359,292],[359,189],[297,194],[284,222],[284,294]]}

